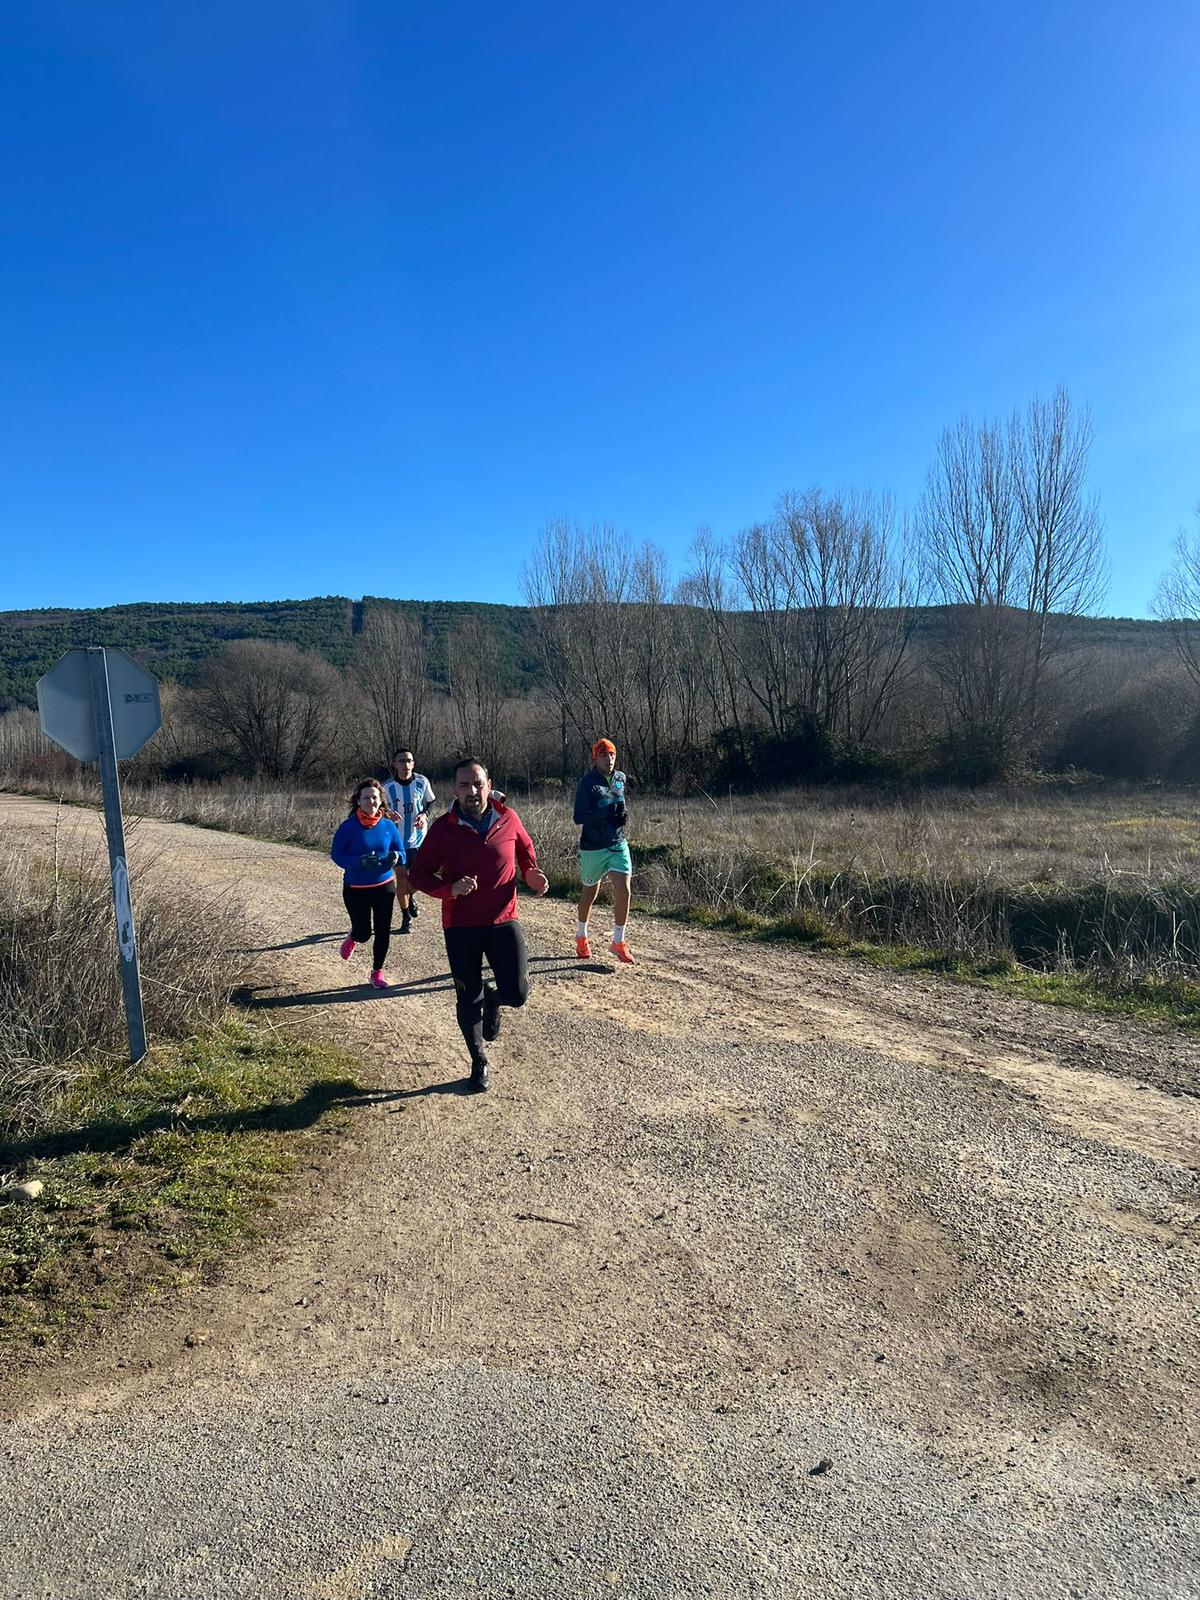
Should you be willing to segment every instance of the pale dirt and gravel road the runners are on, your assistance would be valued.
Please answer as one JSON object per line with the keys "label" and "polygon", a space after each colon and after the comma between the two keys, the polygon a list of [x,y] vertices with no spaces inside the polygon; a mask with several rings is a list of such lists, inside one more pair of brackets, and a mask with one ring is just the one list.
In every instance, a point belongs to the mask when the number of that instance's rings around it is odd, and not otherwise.
{"label": "pale dirt and gravel road the runners are on", "polygon": [[523,902],[467,1098],[432,902],[374,995],[320,854],[139,843],[378,1094],[222,1283],[13,1392],[5,1594],[1200,1594],[1197,1046],[670,923],[581,965]]}

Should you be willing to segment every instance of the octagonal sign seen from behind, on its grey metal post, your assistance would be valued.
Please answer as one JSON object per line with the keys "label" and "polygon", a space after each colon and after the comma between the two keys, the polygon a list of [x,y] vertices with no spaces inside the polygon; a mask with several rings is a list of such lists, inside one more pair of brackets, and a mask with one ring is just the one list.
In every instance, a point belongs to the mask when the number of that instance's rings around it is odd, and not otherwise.
{"label": "octagonal sign seen from behind, on its grey metal post", "polygon": [[37,707],[43,731],[56,744],[80,762],[99,763],[125,1029],[130,1035],[130,1058],[136,1066],[146,1054],[146,1018],[117,762],[136,755],[162,726],[158,683],[123,650],[70,650],[38,678]]}

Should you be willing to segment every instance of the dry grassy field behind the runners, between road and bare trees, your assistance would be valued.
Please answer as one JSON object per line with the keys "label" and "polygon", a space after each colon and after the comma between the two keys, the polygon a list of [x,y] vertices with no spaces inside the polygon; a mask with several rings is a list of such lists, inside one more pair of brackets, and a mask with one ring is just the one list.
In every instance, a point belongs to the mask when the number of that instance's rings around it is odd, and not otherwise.
{"label": "dry grassy field behind the runners, between road and bare trees", "polygon": [[[66,798],[94,800],[83,786]],[[515,795],[558,893],[570,795]],[[341,794],[128,786],[130,813],[326,848]],[[1019,966],[1200,1005],[1200,805],[1190,790],[790,790],[634,797],[642,906],[760,936]],[[333,870],[333,869],[331,869]]]}

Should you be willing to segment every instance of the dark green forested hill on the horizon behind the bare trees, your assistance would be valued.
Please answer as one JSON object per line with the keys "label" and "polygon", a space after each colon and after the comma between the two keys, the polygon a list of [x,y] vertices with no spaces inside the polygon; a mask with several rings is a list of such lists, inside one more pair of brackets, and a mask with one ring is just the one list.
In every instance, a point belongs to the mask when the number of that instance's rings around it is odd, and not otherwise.
{"label": "dark green forested hill on the horizon behind the bare trees", "polygon": [[[496,629],[509,666],[509,686],[522,690],[534,672],[530,613],[523,606],[474,600],[382,600],[322,595],[315,600],[254,603],[144,603],[96,611],[0,611],[0,710],[30,706],[38,677],[66,650],[117,645],[160,678],[190,682],[203,661],[234,638],[269,638],[315,650],[338,667],[349,666],[355,634],[373,608],[395,606],[421,616],[430,635],[430,669],[440,675],[446,634],[469,616]],[[930,608],[920,632],[936,632],[944,613]],[[1165,624],[1131,618],[1080,618],[1090,643],[1117,650],[1155,650],[1166,643]]]}

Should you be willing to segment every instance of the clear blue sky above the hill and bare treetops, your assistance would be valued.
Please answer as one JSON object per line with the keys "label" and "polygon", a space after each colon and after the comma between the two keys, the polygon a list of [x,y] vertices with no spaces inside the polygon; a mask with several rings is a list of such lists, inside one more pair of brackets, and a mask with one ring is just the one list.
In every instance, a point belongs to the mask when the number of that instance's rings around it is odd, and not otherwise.
{"label": "clear blue sky above the hill and bare treetops", "polygon": [[1194,0],[0,13],[0,608],[518,600],[1054,384],[1200,498]]}

